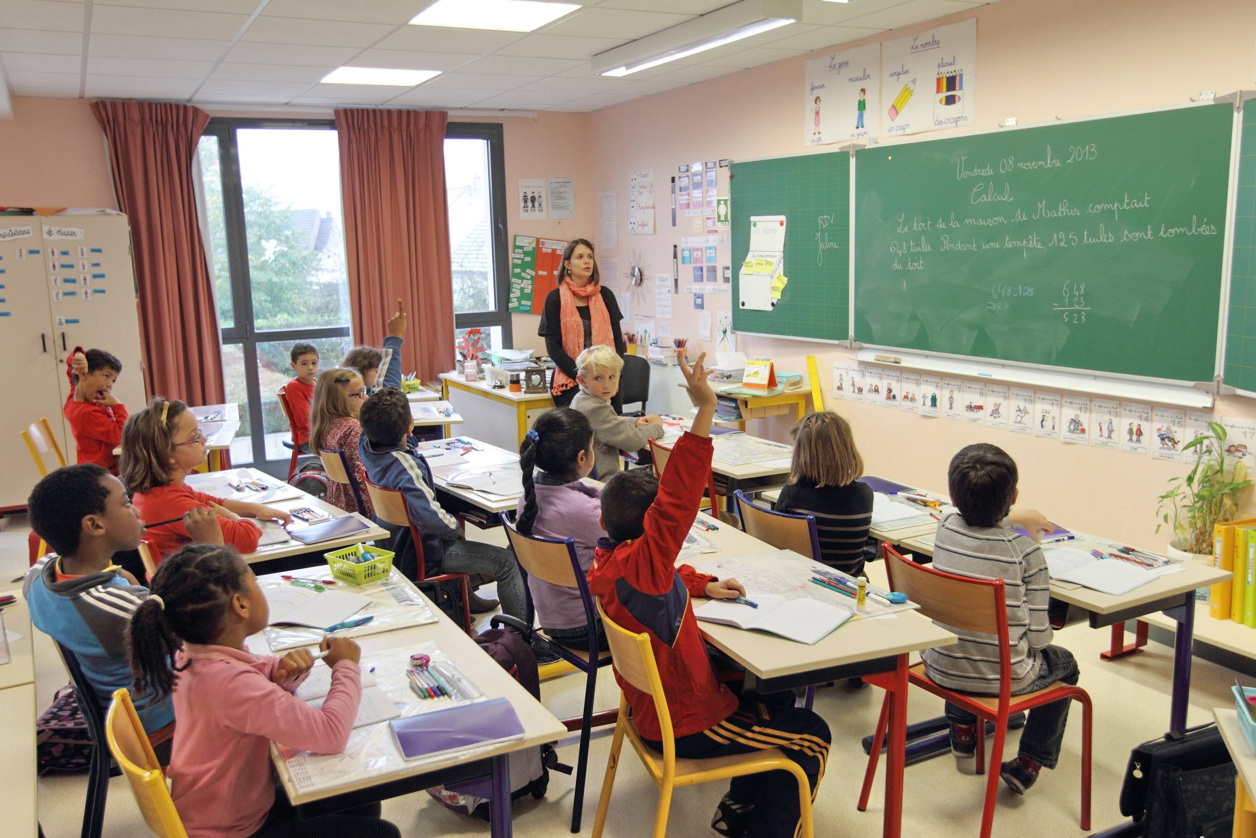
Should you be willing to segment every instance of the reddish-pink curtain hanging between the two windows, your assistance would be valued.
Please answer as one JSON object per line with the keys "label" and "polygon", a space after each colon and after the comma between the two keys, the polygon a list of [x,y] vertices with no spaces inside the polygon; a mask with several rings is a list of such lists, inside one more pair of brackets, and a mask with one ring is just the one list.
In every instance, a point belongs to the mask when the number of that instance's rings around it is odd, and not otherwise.
{"label": "reddish-pink curtain hanging between the two windows", "polygon": [[453,368],[453,284],[443,111],[340,109],[340,192],[354,339],[378,347],[397,300],[402,371]]}

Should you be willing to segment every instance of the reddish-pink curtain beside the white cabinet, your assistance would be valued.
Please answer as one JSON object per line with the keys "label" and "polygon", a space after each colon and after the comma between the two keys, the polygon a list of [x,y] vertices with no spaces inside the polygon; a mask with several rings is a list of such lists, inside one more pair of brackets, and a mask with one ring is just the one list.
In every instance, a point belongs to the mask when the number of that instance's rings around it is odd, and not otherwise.
{"label": "reddish-pink curtain beside the white cabinet", "polygon": [[222,403],[217,309],[192,188],[210,114],[163,102],[93,102],[92,113],[109,141],[118,206],[131,220],[144,384],[190,405]]}

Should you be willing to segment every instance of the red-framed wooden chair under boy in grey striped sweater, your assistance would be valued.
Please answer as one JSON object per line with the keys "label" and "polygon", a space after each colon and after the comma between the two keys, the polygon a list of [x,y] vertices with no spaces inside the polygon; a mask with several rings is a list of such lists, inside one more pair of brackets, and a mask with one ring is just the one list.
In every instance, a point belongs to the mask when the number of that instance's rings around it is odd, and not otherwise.
{"label": "red-framed wooden chair under boy in grey striped sweater", "polygon": [[[921,614],[938,623],[982,634],[992,634],[999,642],[999,695],[972,695],[948,690],[917,663],[907,671],[908,683],[928,690],[936,696],[963,707],[977,716],[977,774],[986,773],[986,721],[995,722],[995,744],[990,753],[990,775],[986,780],[986,800],[981,813],[981,838],[990,838],[995,823],[995,802],[999,794],[999,769],[1004,758],[1004,740],[1007,736],[1007,717],[1053,701],[1076,701],[1081,705],[1081,828],[1090,829],[1090,696],[1081,687],[1056,682],[1042,690],[1024,695],[1011,695],[1011,650],[1007,633],[1007,603],[1002,579],[975,579],[953,573],[934,570],[901,555],[891,544],[882,544],[885,555],[885,573],[892,590],[902,590],[907,598],[921,606]],[[885,686],[891,676],[864,676],[864,681]],[[880,707],[877,732],[868,755],[859,810],[868,805],[872,781],[877,774],[877,758],[885,735],[889,695]]]}

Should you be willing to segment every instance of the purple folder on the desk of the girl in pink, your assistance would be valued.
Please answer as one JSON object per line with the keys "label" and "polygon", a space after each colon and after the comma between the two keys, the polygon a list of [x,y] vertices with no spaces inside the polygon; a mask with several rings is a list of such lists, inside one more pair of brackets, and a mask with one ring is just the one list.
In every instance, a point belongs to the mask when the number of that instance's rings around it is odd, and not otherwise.
{"label": "purple folder on the desk of the girl in pink", "polygon": [[421,712],[388,722],[406,759],[436,756],[475,745],[521,739],[524,726],[506,699]]}

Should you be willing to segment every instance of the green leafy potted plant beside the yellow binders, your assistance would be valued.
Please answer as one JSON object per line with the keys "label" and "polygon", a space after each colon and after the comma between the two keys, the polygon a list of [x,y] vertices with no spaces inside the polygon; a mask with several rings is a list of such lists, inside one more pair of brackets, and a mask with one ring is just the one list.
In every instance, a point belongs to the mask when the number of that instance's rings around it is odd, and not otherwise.
{"label": "green leafy potted plant beside the yellow binders", "polygon": [[1251,486],[1242,459],[1226,470],[1226,428],[1208,422],[1210,433],[1194,437],[1182,451],[1199,449],[1199,459],[1184,476],[1169,479],[1168,490],[1159,496],[1156,510],[1159,533],[1168,525],[1177,536],[1178,549],[1188,553],[1212,553],[1212,528],[1233,519],[1238,511],[1238,492]]}

